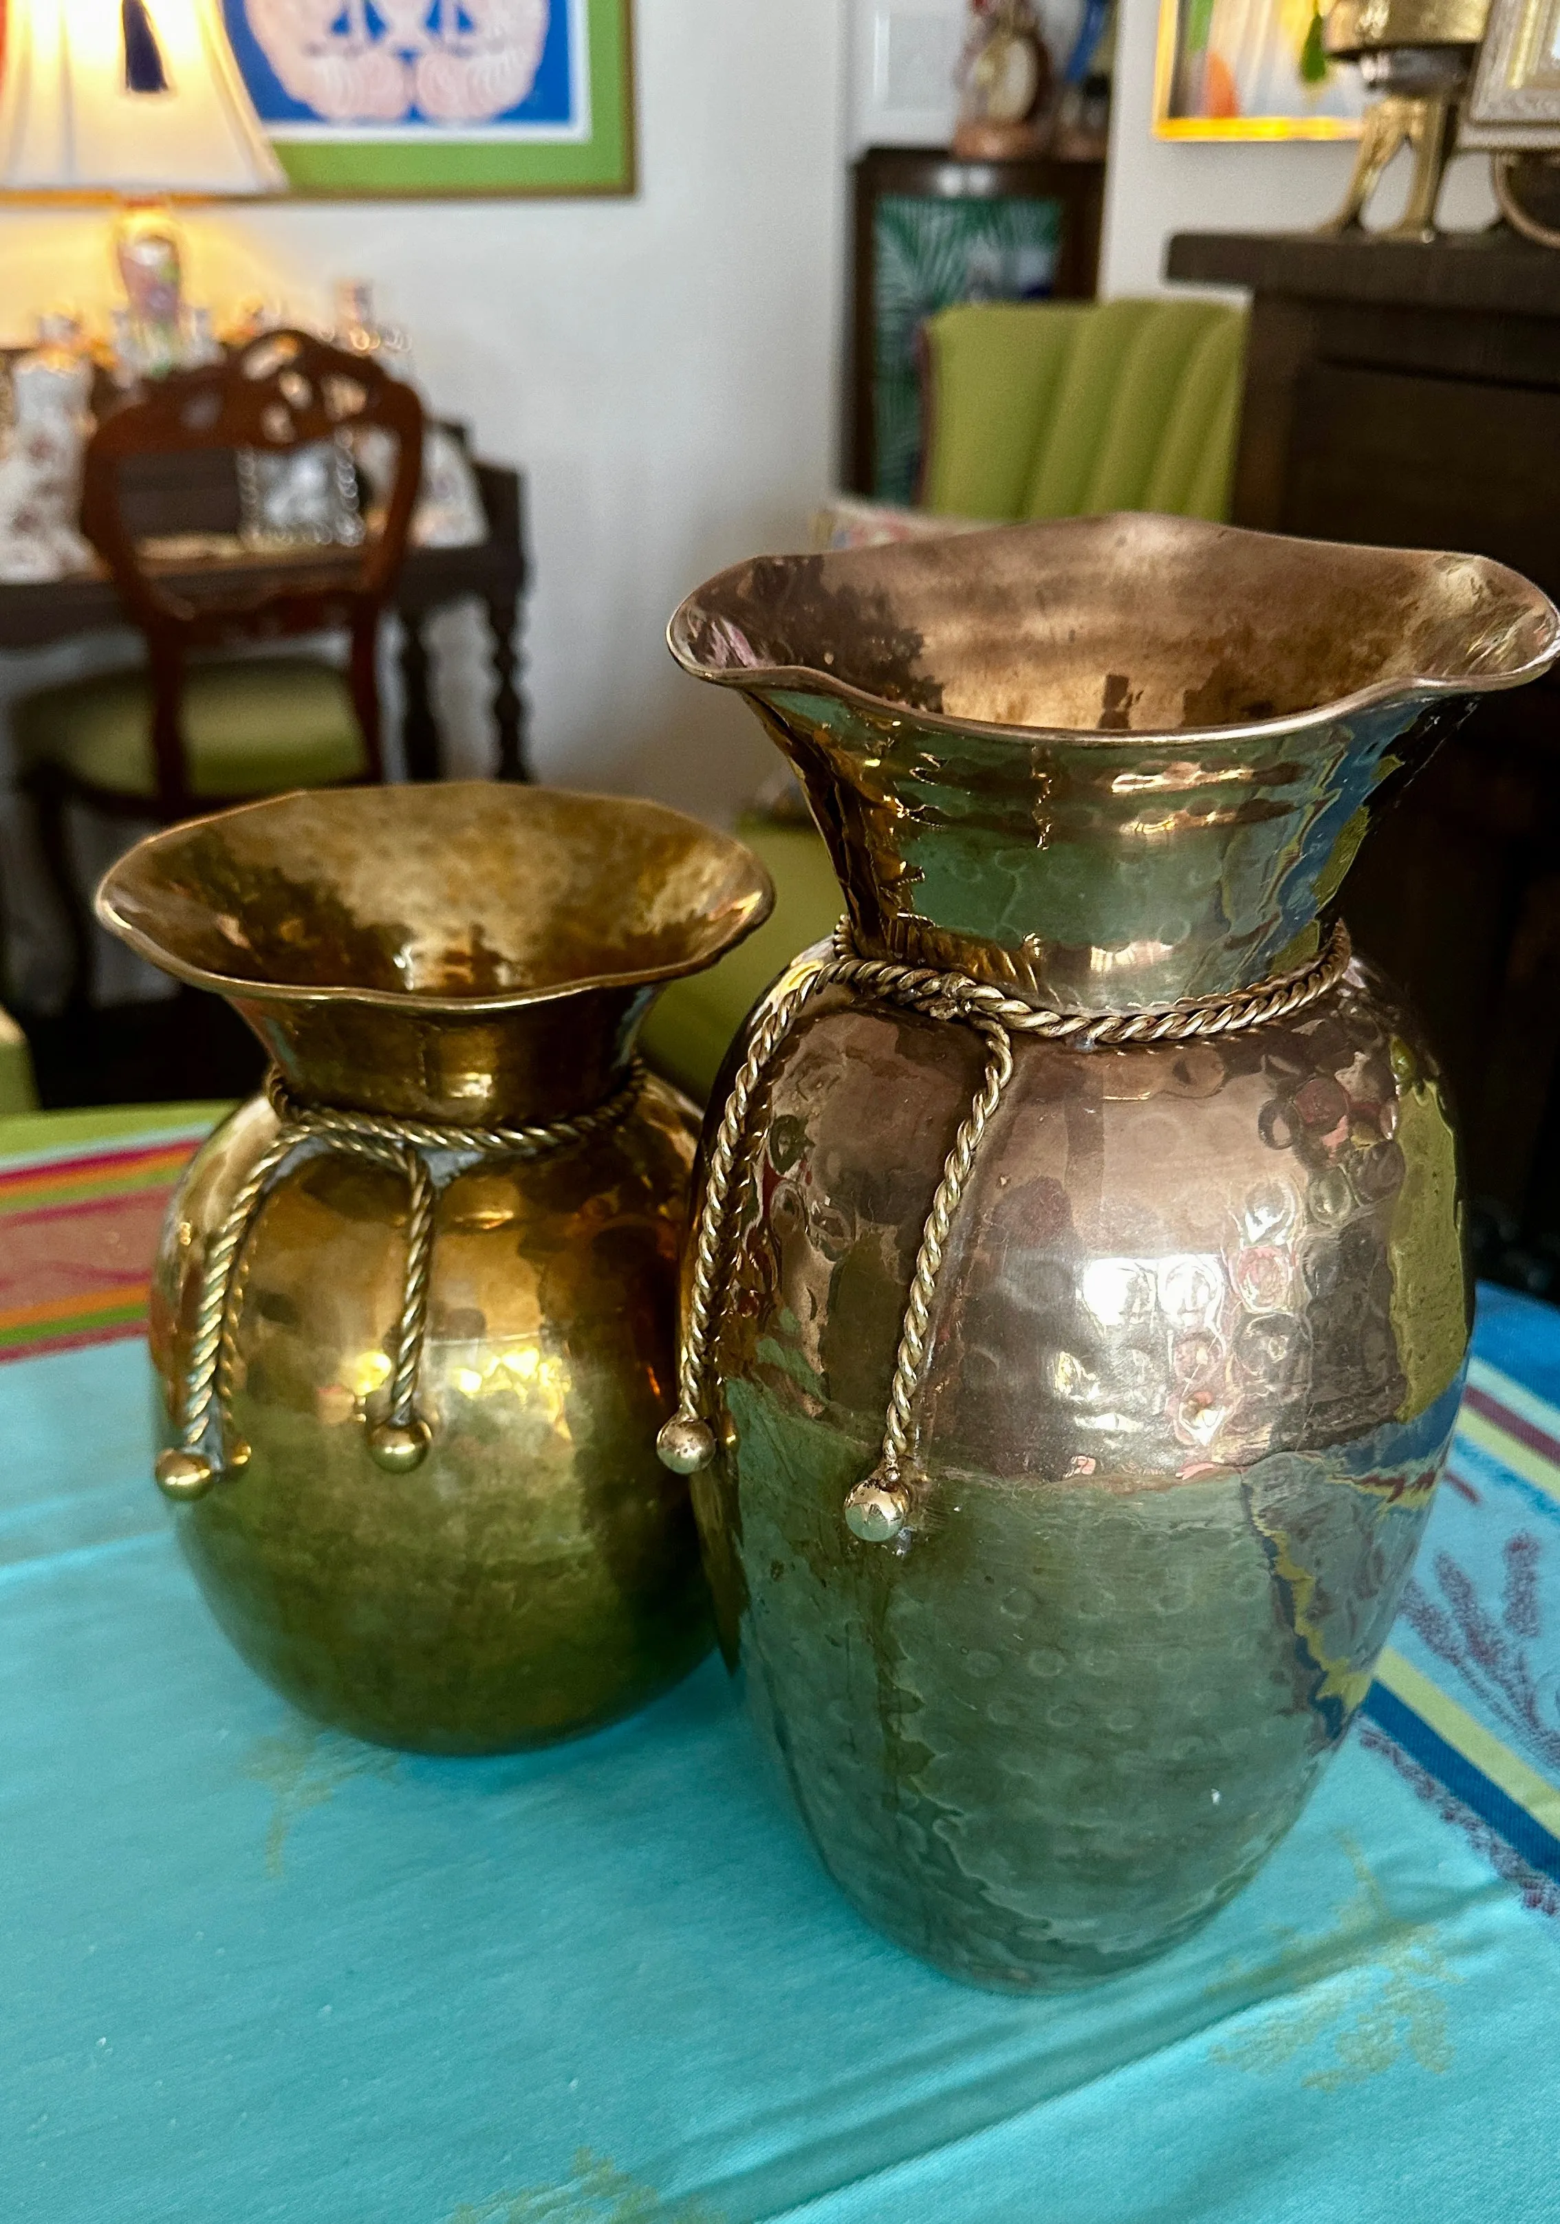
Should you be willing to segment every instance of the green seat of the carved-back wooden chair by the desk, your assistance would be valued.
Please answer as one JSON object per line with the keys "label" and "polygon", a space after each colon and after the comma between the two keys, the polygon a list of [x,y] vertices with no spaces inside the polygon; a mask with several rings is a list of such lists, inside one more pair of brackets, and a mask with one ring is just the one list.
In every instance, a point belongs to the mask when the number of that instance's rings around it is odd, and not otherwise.
{"label": "green seat of the carved-back wooden chair by the desk", "polygon": [[[211,801],[329,787],[367,770],[347,676],[312,656],[191,663],[182,727],[191,794]],[[29,765],[122,796],[156,794],[145,672],[40,687],[13,705],[11,732]]]}

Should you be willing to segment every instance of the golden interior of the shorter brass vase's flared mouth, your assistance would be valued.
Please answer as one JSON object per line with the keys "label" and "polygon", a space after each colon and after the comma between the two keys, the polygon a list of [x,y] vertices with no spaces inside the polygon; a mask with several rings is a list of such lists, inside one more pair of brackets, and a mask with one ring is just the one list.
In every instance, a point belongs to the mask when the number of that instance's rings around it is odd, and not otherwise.
{"label": "golden interior of the shorter brass vase's flared mouth", "polygon": [[481,781],[278,796],[102,885],[107,923],[185,979],[456,1007],[697,972],[768,901],[741,843],[679,812]]}

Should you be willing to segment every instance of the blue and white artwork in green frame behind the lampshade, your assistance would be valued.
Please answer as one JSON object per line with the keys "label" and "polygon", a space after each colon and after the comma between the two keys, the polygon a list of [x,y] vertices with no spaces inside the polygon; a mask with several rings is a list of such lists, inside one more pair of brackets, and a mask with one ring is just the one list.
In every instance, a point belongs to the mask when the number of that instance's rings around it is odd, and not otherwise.
{"label": "blue and white artwork in green frame behind the lampshade", "polygon": [[296,193],[632,193],[632,0],[223,0]]}

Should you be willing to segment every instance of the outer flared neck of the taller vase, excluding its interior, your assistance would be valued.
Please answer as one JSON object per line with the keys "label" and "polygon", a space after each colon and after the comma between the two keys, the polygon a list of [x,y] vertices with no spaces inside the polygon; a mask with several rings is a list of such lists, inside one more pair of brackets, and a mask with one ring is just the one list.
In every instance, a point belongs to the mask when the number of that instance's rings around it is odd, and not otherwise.
{"label": "outer flared neck of the taller vase, excluding its interior", "polygon": [[754,694],[861,952],[1070,1012],[1224,996],[1313,959],[1384,778],[1455,714],[1406,696],[1260,734],[1039,736]]}

